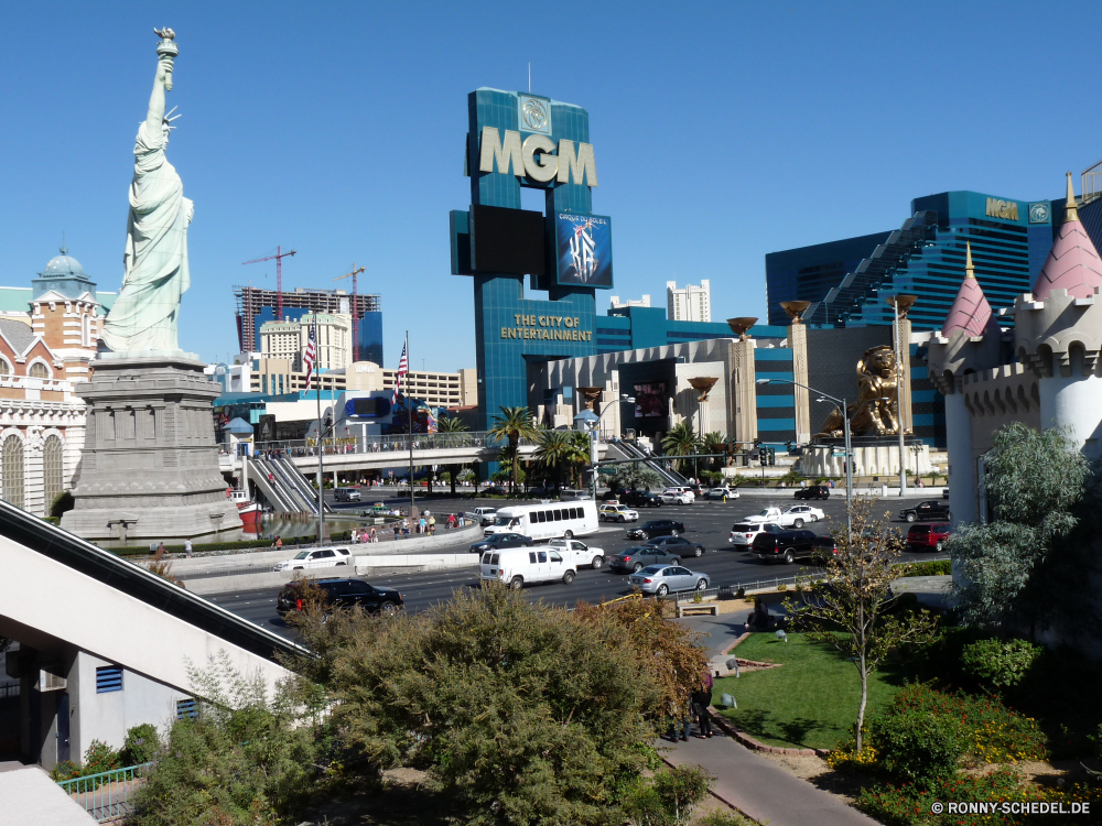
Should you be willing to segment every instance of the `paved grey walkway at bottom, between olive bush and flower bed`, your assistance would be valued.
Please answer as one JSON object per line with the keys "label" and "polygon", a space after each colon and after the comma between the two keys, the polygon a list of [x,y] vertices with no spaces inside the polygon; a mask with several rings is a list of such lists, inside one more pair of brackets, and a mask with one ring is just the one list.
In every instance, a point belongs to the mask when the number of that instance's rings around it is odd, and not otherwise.
{"label": "paved grey walkway at bottom, between olive bush and flower bed", "polygon": [[877,826],[876,820],[847,806],[758,757],[713,726],[716,735],[671,746],[662,740],[666,760],[673,765],[699,765],[715,775],[712,792],[759,823],[769,826]]}

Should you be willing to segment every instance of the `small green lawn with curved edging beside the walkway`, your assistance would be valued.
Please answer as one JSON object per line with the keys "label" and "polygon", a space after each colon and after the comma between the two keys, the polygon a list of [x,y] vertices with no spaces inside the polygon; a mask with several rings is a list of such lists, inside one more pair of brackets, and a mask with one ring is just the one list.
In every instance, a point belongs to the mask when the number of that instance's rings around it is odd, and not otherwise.
{"label": "small green lawn with curved edging beside the walkway", "polygon": [[[861,682],[849,659],[827,645],[789,633],[781,642],[773,632],[755,633],[731,656],[784,663],[780,669],[744,673],[715,681],[713,705],[734,696],[738,708],[722,714],[738,729],[768,746],[833,749],[853,732],[861,704]],[[886,663],[868,684],[868,713],[880,711],[903,686],[903,676]]]}

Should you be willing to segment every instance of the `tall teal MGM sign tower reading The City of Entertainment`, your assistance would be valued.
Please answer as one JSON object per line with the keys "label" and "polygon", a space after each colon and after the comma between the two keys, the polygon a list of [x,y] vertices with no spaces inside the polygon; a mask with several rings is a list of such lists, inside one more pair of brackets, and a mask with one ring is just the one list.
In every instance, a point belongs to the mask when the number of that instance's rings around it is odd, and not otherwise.
{"label": "tall teal MGM sign tower reading The City of Entertainment", "polygon": [[[612,220],[592,214],[590,115],[522,93],[467,97],[471,208],[451,213],[452,273],[475,290],[480,424],[529,403],[528,366],[596,355],[595,291],[613,286]],[[543,211],[520,208],[542,189]],[[547,300],[525,297],[545,291]]]}

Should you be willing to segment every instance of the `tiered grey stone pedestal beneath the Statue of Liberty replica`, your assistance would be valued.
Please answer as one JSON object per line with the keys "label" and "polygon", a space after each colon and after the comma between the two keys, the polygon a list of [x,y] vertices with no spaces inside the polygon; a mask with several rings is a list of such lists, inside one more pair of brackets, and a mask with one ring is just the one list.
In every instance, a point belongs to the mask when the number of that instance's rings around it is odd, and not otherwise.
{"label": "tiered grey stone pedestal beneath the Statue of Liberty replica", "polygon": [[76,393],[88,403],[75,507],[88,540],[197,536],[241,526],[218,468],[210,402],[222,388],[182,351],[108,352]]}

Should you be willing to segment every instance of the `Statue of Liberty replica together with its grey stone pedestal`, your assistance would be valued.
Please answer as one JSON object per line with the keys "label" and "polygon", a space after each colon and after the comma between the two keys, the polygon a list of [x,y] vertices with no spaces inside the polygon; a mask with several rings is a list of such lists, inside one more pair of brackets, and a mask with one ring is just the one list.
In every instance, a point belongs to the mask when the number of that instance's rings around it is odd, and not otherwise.
{"label": "Statue of Liberty replica together with its grey stone pedestal", "polygon": [[76,387],[88,403],[85,446],[75,507],[62,518],[66,530],[111,544],[227,531],[222,537],[237,539],[241,528],[218,465],[210,403],[220,385],[177,338],[194,207],[164,154],[175,120],[164,98],[180,50],[171,29],[156,34],[153,93],[134,141],[122,290],[93,376]]}

